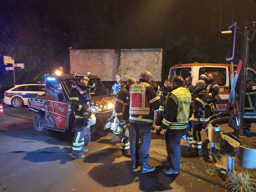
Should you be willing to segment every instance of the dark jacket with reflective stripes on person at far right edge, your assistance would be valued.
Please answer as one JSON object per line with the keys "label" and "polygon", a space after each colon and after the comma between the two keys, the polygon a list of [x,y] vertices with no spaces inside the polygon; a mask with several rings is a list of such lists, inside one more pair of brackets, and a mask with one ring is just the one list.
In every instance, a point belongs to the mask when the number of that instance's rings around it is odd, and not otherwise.
{"label": "dark jacket with reflective stripes on person at far right edge", "polygon": [[255,101],[256,101],[255,97],[256,97],[256,83],[253,82],[252,80],[247,80],[244,109],[247,109],[247,110],[255,109]]}

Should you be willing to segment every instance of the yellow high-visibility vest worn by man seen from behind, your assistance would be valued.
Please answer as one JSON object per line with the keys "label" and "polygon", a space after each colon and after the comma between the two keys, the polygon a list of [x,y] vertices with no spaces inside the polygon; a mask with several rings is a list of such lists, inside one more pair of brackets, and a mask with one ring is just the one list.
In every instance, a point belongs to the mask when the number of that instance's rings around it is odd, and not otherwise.
{"label": "yellow high-visibility vest worn by man seen from behind", "polygon": [[[179,87],[173,90],[171,94],[169,94],[167,97],[170,97],[169,99],[172,99],[177,104],[177,116],[176,116],[177,122],[168,122],[169,124],[168,128],[170,129],[187,128],[189,107],[191,105],[191,100],[192,100],[191,93],[186,88]],[[171,110],[171,109],[166,109],[166,110]],[[166,121],[166,119],[163,119],[163,121]]]}

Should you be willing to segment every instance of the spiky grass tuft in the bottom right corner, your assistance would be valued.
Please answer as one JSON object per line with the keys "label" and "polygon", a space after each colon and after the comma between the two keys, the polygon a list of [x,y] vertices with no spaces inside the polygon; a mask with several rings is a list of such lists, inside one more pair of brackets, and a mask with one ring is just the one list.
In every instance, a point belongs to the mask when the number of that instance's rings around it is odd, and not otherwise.
{"label": "spiky grass tuft in the bottom right corner", "polygon": [[235,174],[230,171],[228,178],[225,182],[226,187],[231,192],[255,192],[256,191],[256,179],[252,177],[252,174],[248,171],[242,171]]}

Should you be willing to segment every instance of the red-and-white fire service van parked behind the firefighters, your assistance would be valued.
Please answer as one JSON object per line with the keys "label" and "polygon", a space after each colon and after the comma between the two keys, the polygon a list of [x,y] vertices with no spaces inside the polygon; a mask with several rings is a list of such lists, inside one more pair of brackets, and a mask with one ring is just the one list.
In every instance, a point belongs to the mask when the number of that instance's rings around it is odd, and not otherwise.
{"label": "red-and-white fire service van parked behind the firefighters", "polygon": [[[209,64],[209,63],[193,63],[193,64],[177,64],[171,66],[169,79],[172,79],[175,75],[179,75],[184,79],[186,77],[192,77],[192,85],[196,85],[196,81],[202,74],[212,73],[215,81],[219,85],[219,93],[217,95],[217,107],[216,111],[226,111],[226,104],[228,102],[230,93],[230,64]],[[234,65],[234,71],[236,72],[237,65]],[[247,73],[251,75],[252,80],[256,82],[256,73],[252,68],[248,68]]]}

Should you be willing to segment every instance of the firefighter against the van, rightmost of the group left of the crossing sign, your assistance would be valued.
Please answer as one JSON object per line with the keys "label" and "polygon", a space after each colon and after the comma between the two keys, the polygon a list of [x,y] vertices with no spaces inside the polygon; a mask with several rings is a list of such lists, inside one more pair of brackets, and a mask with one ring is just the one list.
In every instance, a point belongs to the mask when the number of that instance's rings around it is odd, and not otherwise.
{"label": "firefighter against the van, rightmost of the group left of the crossing sign", "polygon": [[208,105],[205,106],[205,119],[212,116],[214,114],[216,108],[216,96],[219,93],[219,85],[217,81],[214,80],[213,74],[209,73],[207,75],[207,82],[206,82],[206,90],[208,93]]}

